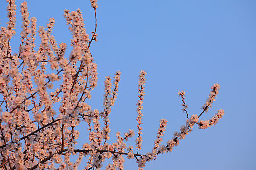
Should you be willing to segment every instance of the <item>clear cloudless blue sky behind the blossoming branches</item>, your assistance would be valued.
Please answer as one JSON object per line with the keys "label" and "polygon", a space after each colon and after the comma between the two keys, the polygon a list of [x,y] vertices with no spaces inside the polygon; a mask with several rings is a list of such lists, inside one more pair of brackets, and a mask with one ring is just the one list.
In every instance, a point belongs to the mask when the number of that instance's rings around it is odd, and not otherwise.
{"label": "clear cloudless blue sky behind the blossoming branches", "polygon": [[[21,2],[16,2],[18,11]],[[94,30],[89,0],[27,2],[38,26],[55,18],[53,35],[58,44],[70,44],[71,39],[64,9],[80,8],[87,32]],[[1,26],[7,21],[6,6],[1,0]],[[15,52],[21,26],[17,14],[18,34],[11,42]],[[117,131],[123,134],[131,128],[137,132],[140,70],[148,73],[141,153],[152,149],[161,118],[168,120],[164,143],[185,124],[178,91],[186,92],[189,114],[198,114],[217,82],[221,85],[217,101],[201,118],[209,119],[223,108],[223,119],[206,130],[194,126],[173,152],[159,155],[145,170],[256,170],[256,0],[98,0],[97,17],[98,42],[91,47],[98,64],[98,87],[89,101],[93,109],[102,110],[105,76],[121,71],[110,115],[111,141]],[[85,124],[79,129],[78,148],[88,137]],[[135,139],[129,143],[134,147]],[[84,165],[86,159],[80,169]],[[125,170],[136,166],[134,160],[126,159]]]}

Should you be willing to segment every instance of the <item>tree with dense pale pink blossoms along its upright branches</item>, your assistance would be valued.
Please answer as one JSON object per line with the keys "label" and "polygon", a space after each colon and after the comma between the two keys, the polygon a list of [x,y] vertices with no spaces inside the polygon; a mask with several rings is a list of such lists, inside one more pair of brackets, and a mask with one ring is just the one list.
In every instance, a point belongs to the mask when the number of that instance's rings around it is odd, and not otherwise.
{"label": "tree with dense pale pink blossoms along its upright branches", "polygon": [[[90,0],[95,13],[95,30],[92,36],[86,33],[80,9],[65,10],[64,17],[73,39],[72,51],[65,58],[66,44],[59,47],[52,35],[54,18],[49,19],[47,27],[39,27],[41,39],[36,50],[36,18],[29,19],[27,3],[20,5],[22,15],[21,44],[18,53],[12,53],[11,38],[15,32],[15,0],[7,0],[6,27],[0,28],[0,169],[1,170],[34,170],[77,169],[83,157],[87,157],[85,170],[100,169],[106,159],[112,164],[107,170],[123,170],[124,158],[134,159],[138,170],[159,154],[171,152],[179,145],[181,139],[192,131],[197,124],[199,129],[215,125],[224,115],[220,109],[209,120],[199,120],[203,113],[211,108],[218,94],[220,85],[211,87],[211,92],[202,106],[202,112],[189,115],[185,102],[185,92],[179,92],[182,110],[187,120],[174,132],[174,136],[165,144],[163,135],[167,120],[161,119],[154,146],[148,153],[141,153],[142,145],[142,109],[145,96],[144,85],[146,72],[141,71],[138,81],[138,121],[135,148],[127,146],[126,141],[135,135],[134,130],[124,134],[116,133],[117,140],[109,143],[109,115],[117,98],[120,72],[117,71],[112,83],[111,77],[105,80],[103,110],[92,110],[86,103],[91,98],[91,91],[97,86],[97,65],[94,62],[90,46],[97,39],[97,0]],[[51,73],[47,73],[51,69]],[[48,71],[49,72],[49,71]],[[53,83],[61,85],[53,92]],[[59,102],[59,110],[56,103]],[[55,107],[53,107],[55,106]],[[88,124],[89,142],[82,148],[76,148],[79,131],[75,130],[80,123]],[[72,155],[78,154],[75,162]]]}

